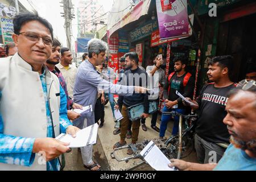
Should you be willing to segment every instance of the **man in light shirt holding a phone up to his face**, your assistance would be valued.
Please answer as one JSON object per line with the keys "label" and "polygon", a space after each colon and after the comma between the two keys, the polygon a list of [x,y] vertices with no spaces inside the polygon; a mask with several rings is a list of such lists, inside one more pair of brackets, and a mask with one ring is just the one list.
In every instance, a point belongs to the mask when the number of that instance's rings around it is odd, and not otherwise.
{"label": "man in light shirt holding a phone up to his face", "polygon": [[[160,68],[162,64],[163,64],[163,60],[159,59],[158,56],[155,56],[154,65],[148,66],[146,69],[148,76],[152,78],[151,88],[159,88],[160,86],[164,85],[166,72],[164,72],[164,70]],[[154,99],[156,99],[156,103],[159,103],[159,94],[158,94],[158,98],[154,98]],[[160,130],[156,126],[157,118],[158,118],[158,111],[152,114],[151,128],[159,133]],[[142,118],[141,119],[142,130],[147,131],[147,127],[145,123],[146,123],[146,119]]]}

